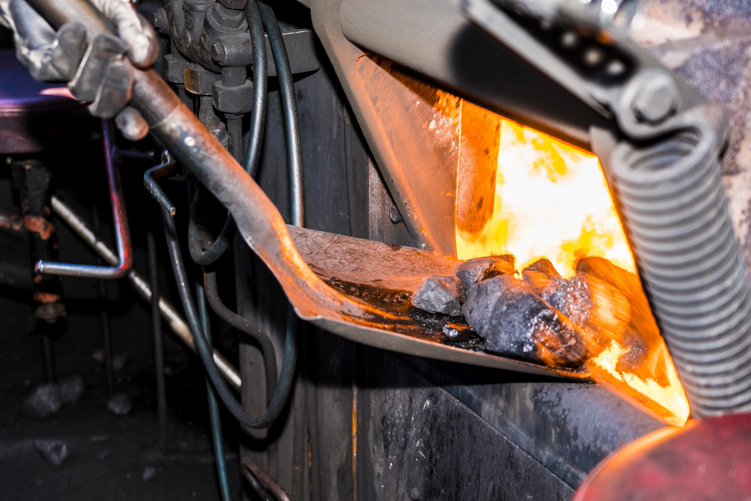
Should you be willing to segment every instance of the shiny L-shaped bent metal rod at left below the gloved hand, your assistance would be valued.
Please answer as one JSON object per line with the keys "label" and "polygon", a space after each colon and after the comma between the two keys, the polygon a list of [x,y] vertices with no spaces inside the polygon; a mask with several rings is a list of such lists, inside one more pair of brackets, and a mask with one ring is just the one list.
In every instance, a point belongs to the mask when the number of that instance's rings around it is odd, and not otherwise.
{"label": "shiny L-shaped bent metal rod at left below the gloved hand", "polygon": [[104,164],[107,167],[107,182],[112,202],[112,219],[115,226],[115,242],[119,259],[113,266],[92,266],[89,264],[60,263],[57,261],[37,261],[35,271],[49,275],[86,276],[97,279],[119,279],[128,274],[133,266],[131,236],[128,231],[128,217],[125,216],[125,204],[122,201],[122,186],[116,162],[113,160],[114,141],[112,122],[102,120],[104,137]]}

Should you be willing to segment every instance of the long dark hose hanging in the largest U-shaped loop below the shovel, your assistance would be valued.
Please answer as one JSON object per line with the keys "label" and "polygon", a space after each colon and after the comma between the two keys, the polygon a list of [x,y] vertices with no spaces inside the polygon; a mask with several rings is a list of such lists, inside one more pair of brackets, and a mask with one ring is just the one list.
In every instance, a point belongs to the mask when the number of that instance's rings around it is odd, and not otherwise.
{"label": "long dark hose hanging in the largest U-shaped loop below the shovel", "polygon": [[261,416],[249,415],[245,409],[243,409],[240,402],[234,397],[225,382],[225,379],[222,378],[222,375],[219,373],[216,364],[214,364],[212,349],[201,328],[201,321],[198,318],[198,312],[193,303],[193,297],[188,285],[185,265],[182,262],[182,255],[180,255],[179,243],[177,242],[177,231],[174,219],[170,218],[165,210],[162,210],[161,214],[162,221],[164,222],[164,235],[167,237],[167,249],[170,252],[170,261],[175,274],[182,308],[185,310],[185,317],[188,320],[193,335],[193,341],[198,349],[198,355],[201,356],[201,361],[204,363],[204,367],[206,367],[206,372],[216,389],[216,394],[219,395],[219,398],[222,399],[222,402],[227,406],[227,409],[229,409],[231,414],[234,415],[237,421],[240,421],[241,424],[249,428],[268,427],[277,417],[279,417],[282,409],[284,409],[290,388],[292,387],[294,366],[297,362],[297,331],[294,329],[287,330],[282,371],[279,375],[279,383],[276,386],[276,391],[274,392],[268,409],[266,409],[266,412]]}

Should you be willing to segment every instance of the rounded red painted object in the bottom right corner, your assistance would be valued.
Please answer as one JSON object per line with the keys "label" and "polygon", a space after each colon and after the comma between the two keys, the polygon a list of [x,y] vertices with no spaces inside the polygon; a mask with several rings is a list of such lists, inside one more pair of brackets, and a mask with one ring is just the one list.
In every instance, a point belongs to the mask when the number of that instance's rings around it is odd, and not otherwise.
{"label": "rounded red painted object in the bottom right corner", "polygon": [[600,463],[572,501],[748,501],[751,413],[643,436]]}

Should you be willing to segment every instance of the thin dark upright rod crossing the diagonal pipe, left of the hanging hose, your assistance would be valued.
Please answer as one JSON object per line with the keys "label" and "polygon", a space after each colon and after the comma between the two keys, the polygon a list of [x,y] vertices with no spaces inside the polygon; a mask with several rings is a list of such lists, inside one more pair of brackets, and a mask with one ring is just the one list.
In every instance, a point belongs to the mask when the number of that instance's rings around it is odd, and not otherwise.
{"label": "thin dark upright rod crossing the diagonal pipe, left of the hanging hose", "polygon": [[156,259],[154,234],[146,234],[149,252],[149,280],[151,282],[151,330],[154,337],[154,365],[156,370],[156,403],[159,420],[159,450],[167,452],[167,387],[164,384],[164,343],[161,339],[161,315],[159,315],[159,267]]}

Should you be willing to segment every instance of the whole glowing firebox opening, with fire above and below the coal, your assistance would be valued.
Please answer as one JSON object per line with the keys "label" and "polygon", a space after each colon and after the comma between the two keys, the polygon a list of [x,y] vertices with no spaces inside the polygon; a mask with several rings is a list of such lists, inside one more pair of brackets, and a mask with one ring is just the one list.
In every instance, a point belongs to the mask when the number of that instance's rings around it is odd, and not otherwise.
{"label": "whole glowing firebox opening, with fire above and below the coal", "polygon": [[[517,270],[539,258],[549,259],[564,277],[575,275],[580,258],[607,258],[635,273],[620,219],[596,155],[524,127],[473,104],[460,104],[460,164],[457,168],[456,246],[460,259],[513,254]],[[488,142],[488,125],[499,131]],[[478,131],[484,128],[484,131]],[[491,134],[492,135],[492,134]],[[482,158],[478,151],[495,158]],[[494,165],[495,164],[495,165]],[[495,169],[492,211],[485,201],[492,186],[483,171]],[[486,174],[487,177],[487,174]],[[486,188],[483,188],[485,186]],[[485,192],[481,195],[480,192]],[[471,205],[468,205],[471,204]],[[469,209],[467,207],[470,207]],[[638,279],[635,279],[638,287]],[[641,289],[641,287],[638,287]],[[643,297],[643,291],[635,291]],[[645,309],[646,299],[644,299]],[[593,378],[644,403],[669,424],[683,426],[689,404],[674,364],[649,313],[638,333],[650,346],[650,362],[635,373],[617,370],[628,348],[619,333],[587,361]],[[658,382],[662,382],[662,385]]]}

